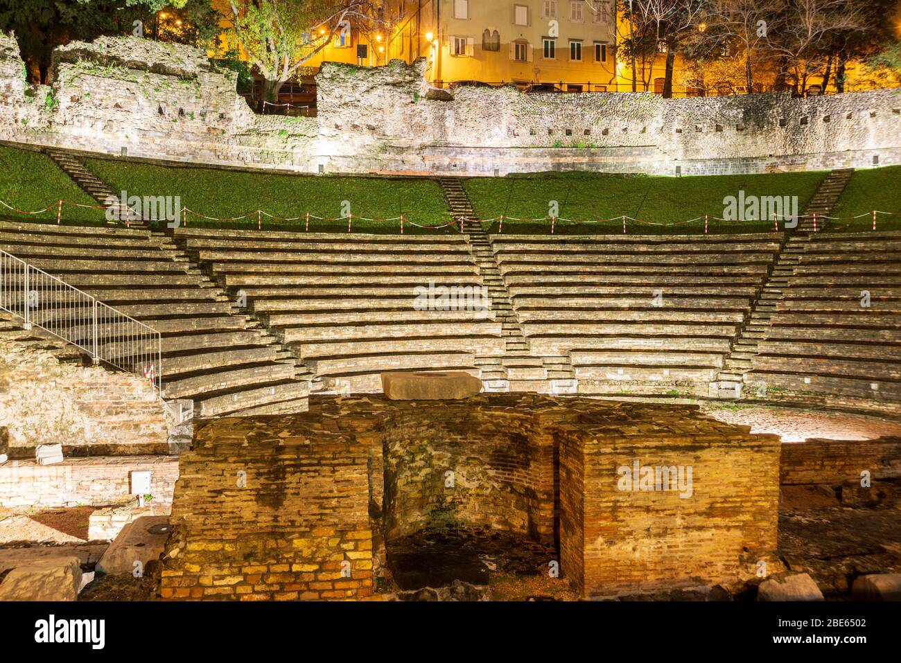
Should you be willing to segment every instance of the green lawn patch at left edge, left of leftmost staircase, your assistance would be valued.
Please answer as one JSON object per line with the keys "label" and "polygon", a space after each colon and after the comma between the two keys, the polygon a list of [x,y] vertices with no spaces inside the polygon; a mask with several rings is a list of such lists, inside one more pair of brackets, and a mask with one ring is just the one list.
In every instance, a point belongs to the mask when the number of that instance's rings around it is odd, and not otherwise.
{"label": "green lawn patch at left edge, left of leftmost staircase", "polygon": [[[44,213],[21,214],[0,204],[0,216],[11,221],[56,223],[56,201],[60,198],[70,203],[96,205],[91,196],[41,152],[0,145],[0,174],[0,200],[5,204],[26,212],[53,205]],[[105,211],[63,205],[62,221],[78,225],[101,224],[105,223]]]}

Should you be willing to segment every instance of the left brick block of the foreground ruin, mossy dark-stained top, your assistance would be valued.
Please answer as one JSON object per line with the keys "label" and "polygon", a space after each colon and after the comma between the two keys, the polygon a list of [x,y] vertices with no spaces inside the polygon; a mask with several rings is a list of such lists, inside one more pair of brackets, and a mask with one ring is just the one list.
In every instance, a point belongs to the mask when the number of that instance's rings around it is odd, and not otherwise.
{"label": "left brick block of the foreground ruin, mossy dark-stained top", "polygon": [[180,457],[164,599],[373,593],[369,444],[308,421],[221,419],[196,431],[195,450]]}

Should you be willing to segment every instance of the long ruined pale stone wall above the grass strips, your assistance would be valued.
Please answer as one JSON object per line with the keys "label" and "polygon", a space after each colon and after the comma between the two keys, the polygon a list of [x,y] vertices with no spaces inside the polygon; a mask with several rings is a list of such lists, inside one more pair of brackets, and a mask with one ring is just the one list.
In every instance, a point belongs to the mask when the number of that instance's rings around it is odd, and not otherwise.
{"label": "long ruined pale stone wall above the grass strips", "polygon": [[258,116],[235,74],[187,46],[133,37],[55,51],[52,87],[25,86],[0,35],[0,139],[298,172],[433,175],[585,169],[672,175],[901,163],[897,89],[663,99],[523,95],[425,82],[425,62],[327,63],[318,117]]}

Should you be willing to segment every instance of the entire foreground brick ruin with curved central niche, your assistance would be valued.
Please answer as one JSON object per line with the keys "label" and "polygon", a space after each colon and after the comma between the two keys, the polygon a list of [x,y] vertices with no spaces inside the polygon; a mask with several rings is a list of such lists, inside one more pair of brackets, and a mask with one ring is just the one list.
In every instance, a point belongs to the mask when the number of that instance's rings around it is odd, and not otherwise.
{"label": "entire foreground brick ruin with curved central niche", "polygon": [[[589,597],[737,581],[776,549],[778,448],[696,406],[529,394],[219,419],[179,458],[162,596],[367,598],[385,541],[442,528],[559,531]],[[632,459],[693,468],[692,495],[617,490]]]}

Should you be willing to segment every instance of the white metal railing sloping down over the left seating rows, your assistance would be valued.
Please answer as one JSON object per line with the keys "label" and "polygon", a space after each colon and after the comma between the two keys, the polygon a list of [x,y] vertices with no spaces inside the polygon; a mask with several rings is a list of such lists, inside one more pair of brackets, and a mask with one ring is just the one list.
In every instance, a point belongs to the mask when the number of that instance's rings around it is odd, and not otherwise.
{"label": "white metal railing sloping down over the left seating rows", "polygon": [[0,250],[0,310],[162,391],[162,336],[42,269]]}

